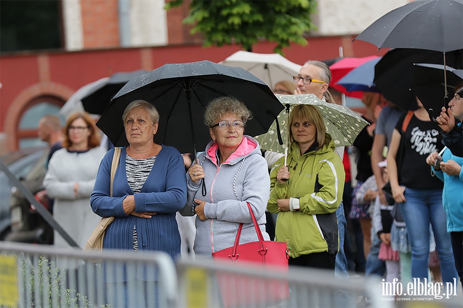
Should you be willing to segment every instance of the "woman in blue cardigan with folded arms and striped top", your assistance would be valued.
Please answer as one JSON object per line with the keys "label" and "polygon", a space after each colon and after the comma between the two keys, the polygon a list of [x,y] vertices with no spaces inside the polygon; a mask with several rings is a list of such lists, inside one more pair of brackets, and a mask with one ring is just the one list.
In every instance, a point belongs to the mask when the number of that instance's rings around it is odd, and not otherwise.
{"label": "woman in blue cardigan with folded arms and striped top", "polygon": [[[159,113],[150,103],[133,101],[124,110],[122,120],[129,146],[121,150],[113,197],[110,176],[114,149],[100,164],[90,198],[96,214],[115,217],[106,229],[103,249],[163,251],[174,259],[180,255],[181,243],[175,213],[186,203],[183,158],[175,148],[154,143]],[[111,273],[105,271],[105,282],[156,280],[146,271],[129,272],[124,268],[119,277],[110,277]],[[126,301],[126,305],[132,304]]]}

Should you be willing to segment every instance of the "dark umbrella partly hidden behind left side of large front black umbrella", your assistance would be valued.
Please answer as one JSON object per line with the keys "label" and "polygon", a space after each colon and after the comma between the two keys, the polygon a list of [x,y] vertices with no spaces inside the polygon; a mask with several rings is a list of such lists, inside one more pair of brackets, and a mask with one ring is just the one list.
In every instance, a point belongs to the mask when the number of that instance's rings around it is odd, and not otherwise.
{"label": "dark umbrella partly hidden behind left side of large front black umbrella", "polygon": [[81,99],[88,113],[102,114],[114,95],[131,79],[147,71],[139,69],[133,72],[119,72],[111,75],[104,83],[96,85]]}

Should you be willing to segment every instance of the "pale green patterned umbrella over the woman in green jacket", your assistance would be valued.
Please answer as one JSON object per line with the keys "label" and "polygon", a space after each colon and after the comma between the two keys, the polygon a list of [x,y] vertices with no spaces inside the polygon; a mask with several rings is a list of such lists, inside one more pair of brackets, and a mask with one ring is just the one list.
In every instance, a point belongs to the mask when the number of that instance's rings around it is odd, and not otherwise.
{"label": "pale green patterned umbrella over the woman in green jacket", "polygon": [[276,97],[283,106],[287,107],[278,114],[281,142],[278,140],[278,128],[276,121],[274,121],[266,133],[255,137],[264,150],[285,153],[289,146],[289,113],[287,109],[291,112],[292,108],[297,105],[305,104],[318,107],[325,122],[326,132],[330,134],[335,146],[352,145],[360,131],[368,124],[348,107],[326,103],[317,98],[315,94],[277,94]]}

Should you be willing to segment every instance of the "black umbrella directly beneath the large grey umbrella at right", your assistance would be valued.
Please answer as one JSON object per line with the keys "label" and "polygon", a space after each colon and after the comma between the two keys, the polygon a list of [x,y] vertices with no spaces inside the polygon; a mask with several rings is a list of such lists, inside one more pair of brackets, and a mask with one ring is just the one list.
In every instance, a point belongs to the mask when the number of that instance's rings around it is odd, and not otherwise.
{"label": "black umbrella directly beneath the large grey umbrella at right", "polygon": [[[463,50],[448,52],[447,62],[452,67],[461,68]],[[375,66],[374,81],[380,92],[388,101],[405,110],[417,107],[415,93],[411,90],[415,86],[415,63],[443,64],[442,54],[433,50],[397,48],[389,50]],[[442,83],[443,79],[442,73]],[[440,97],[444,106],[444,96]]]}

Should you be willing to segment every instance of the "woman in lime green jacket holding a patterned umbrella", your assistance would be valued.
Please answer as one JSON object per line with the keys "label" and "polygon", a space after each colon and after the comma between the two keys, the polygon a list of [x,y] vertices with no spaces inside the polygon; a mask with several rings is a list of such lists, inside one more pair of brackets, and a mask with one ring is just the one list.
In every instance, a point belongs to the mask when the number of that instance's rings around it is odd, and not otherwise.
{"label": "woman in lime green jacket holding a patterned umbrella", "polygon": [[275,240],[286,242],[289,264],[334,269],[339,249],[336,209],[345,172],[315,106],[298,105],[290,114],[288,166],[279,159],[270,173],[267,208],[278,213]]}

